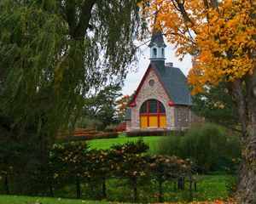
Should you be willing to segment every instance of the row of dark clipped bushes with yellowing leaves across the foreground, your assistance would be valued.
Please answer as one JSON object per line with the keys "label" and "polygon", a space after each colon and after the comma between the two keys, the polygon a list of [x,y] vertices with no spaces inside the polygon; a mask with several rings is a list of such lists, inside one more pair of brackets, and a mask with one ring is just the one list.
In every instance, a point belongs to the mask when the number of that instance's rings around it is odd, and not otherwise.
{"label": "row of dark clipped bushes with yellowing leaves across the foreground", "polygon": [[60,191],[63,195],[63,190],[74,189],[75,184],[77,197],[80,197],[80,185],[84,184],[88,190],[86,193],[93,194],[94,199],[106,199],[107,181],[116,179],[122,181],[127,190],[133,191],[132,200],[136,202],[140,201],[143,191],[154,189],[155,182],[158,182],[159,201],[163,201],[162,184],[190,175],[189,163],[177,156],[150,157],[145,154],[147,150],[148,144],[142,138],[115,144],[110,150],[89,150],[85,142],[55,144],[50,150],[49,164],[45,165],[41,180],[48,184],[51,195],[56,196],[55,192]]}

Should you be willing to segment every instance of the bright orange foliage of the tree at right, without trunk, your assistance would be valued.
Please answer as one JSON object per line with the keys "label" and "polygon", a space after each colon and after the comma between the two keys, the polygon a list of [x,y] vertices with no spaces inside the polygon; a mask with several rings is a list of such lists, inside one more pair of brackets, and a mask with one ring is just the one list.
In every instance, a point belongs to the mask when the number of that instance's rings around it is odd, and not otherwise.
{"label": "bright orange foliage of the tree at right, without trunk", "polygon": [[[149,0],[143,14],[157,21],[177,56],[193,54],[189,71],[193,93],[208,83],[234,81],[253,73],[256,35],[255,1]],[[143,4],[141,4],[143,7]],[[149,14],[148,14],[149,13]],[[151,14],[151,15],[150,15]],[[152,22],[152,19],[151,19]]]}

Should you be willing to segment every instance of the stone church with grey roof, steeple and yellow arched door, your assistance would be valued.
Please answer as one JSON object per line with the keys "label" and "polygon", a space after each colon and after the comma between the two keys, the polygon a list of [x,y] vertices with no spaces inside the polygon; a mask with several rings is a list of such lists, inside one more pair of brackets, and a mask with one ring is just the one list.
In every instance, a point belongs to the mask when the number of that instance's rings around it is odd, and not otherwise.
{"label": "stone church with grey roof, steeple and yellow arched door", "polygon": [[161,31],[152,35],[150,64],[125,111],[126,131],[185,130],[201,118],[189,110],[193,105],[183,72],[166,63],[166,43]]}

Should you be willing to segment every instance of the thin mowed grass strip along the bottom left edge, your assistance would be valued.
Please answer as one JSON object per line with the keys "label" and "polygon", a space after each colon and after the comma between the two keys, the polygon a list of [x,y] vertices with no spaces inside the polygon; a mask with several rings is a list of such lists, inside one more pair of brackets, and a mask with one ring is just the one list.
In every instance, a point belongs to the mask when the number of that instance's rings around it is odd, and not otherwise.
{"label": "thin mowed grass strip along the bottom left edge", "polygon": [[0,195],[0,204],[107,204],[108,201],[84,201],[64,198]]}

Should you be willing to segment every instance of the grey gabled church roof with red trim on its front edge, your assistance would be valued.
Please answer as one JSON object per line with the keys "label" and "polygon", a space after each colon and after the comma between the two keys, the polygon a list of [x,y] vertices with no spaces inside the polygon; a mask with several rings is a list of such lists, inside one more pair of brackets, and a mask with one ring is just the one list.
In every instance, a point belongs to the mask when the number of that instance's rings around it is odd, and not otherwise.
{"label": "grey gabled church roof with red trim on its front edge", "polygon": [[166,66],[164,60],[155,60],[148,65],[148,70],[144,74],[143,80],[140,82],[136,93],[131,99],[131,103],[134,103],[136,100],[137,94],[140,92],[143,82],[148,77],[148,72],[151,68],[159,78],[166,94],[174,105],[193,105],[187,77],[185,77],[179,68]]}

